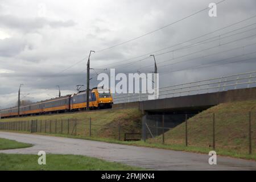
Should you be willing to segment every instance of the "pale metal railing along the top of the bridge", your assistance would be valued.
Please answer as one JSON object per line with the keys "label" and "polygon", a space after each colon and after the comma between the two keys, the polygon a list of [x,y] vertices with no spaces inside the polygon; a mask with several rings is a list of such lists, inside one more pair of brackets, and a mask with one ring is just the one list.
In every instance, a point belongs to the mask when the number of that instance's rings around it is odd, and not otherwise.
{"label": "pale metal railing along the top of the bridge", "polygon": [[[159,99],[189,96],[226,90],[253,88],[256,86],[256,71],[228,75],[207,80],[188,82],[159,88]],[[114,104],[148,100],[148,93],[113,94]]]}

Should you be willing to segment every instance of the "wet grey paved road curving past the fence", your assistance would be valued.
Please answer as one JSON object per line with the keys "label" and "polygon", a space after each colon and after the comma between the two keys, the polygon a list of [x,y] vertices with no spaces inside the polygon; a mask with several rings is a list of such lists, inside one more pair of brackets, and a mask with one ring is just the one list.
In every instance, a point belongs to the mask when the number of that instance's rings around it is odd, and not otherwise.
{"label": "wet grey paved road curving past the fence", "polygon": [[30,148],[0,150],[7,154],[38,154],[43,150],[47,154],[86,155],[156,170],[256,170],[254,161],[218,156],[217,165],[209,165],[207,154],[192,152],[7,132],[0,132],[0,138],[34,144]]}

